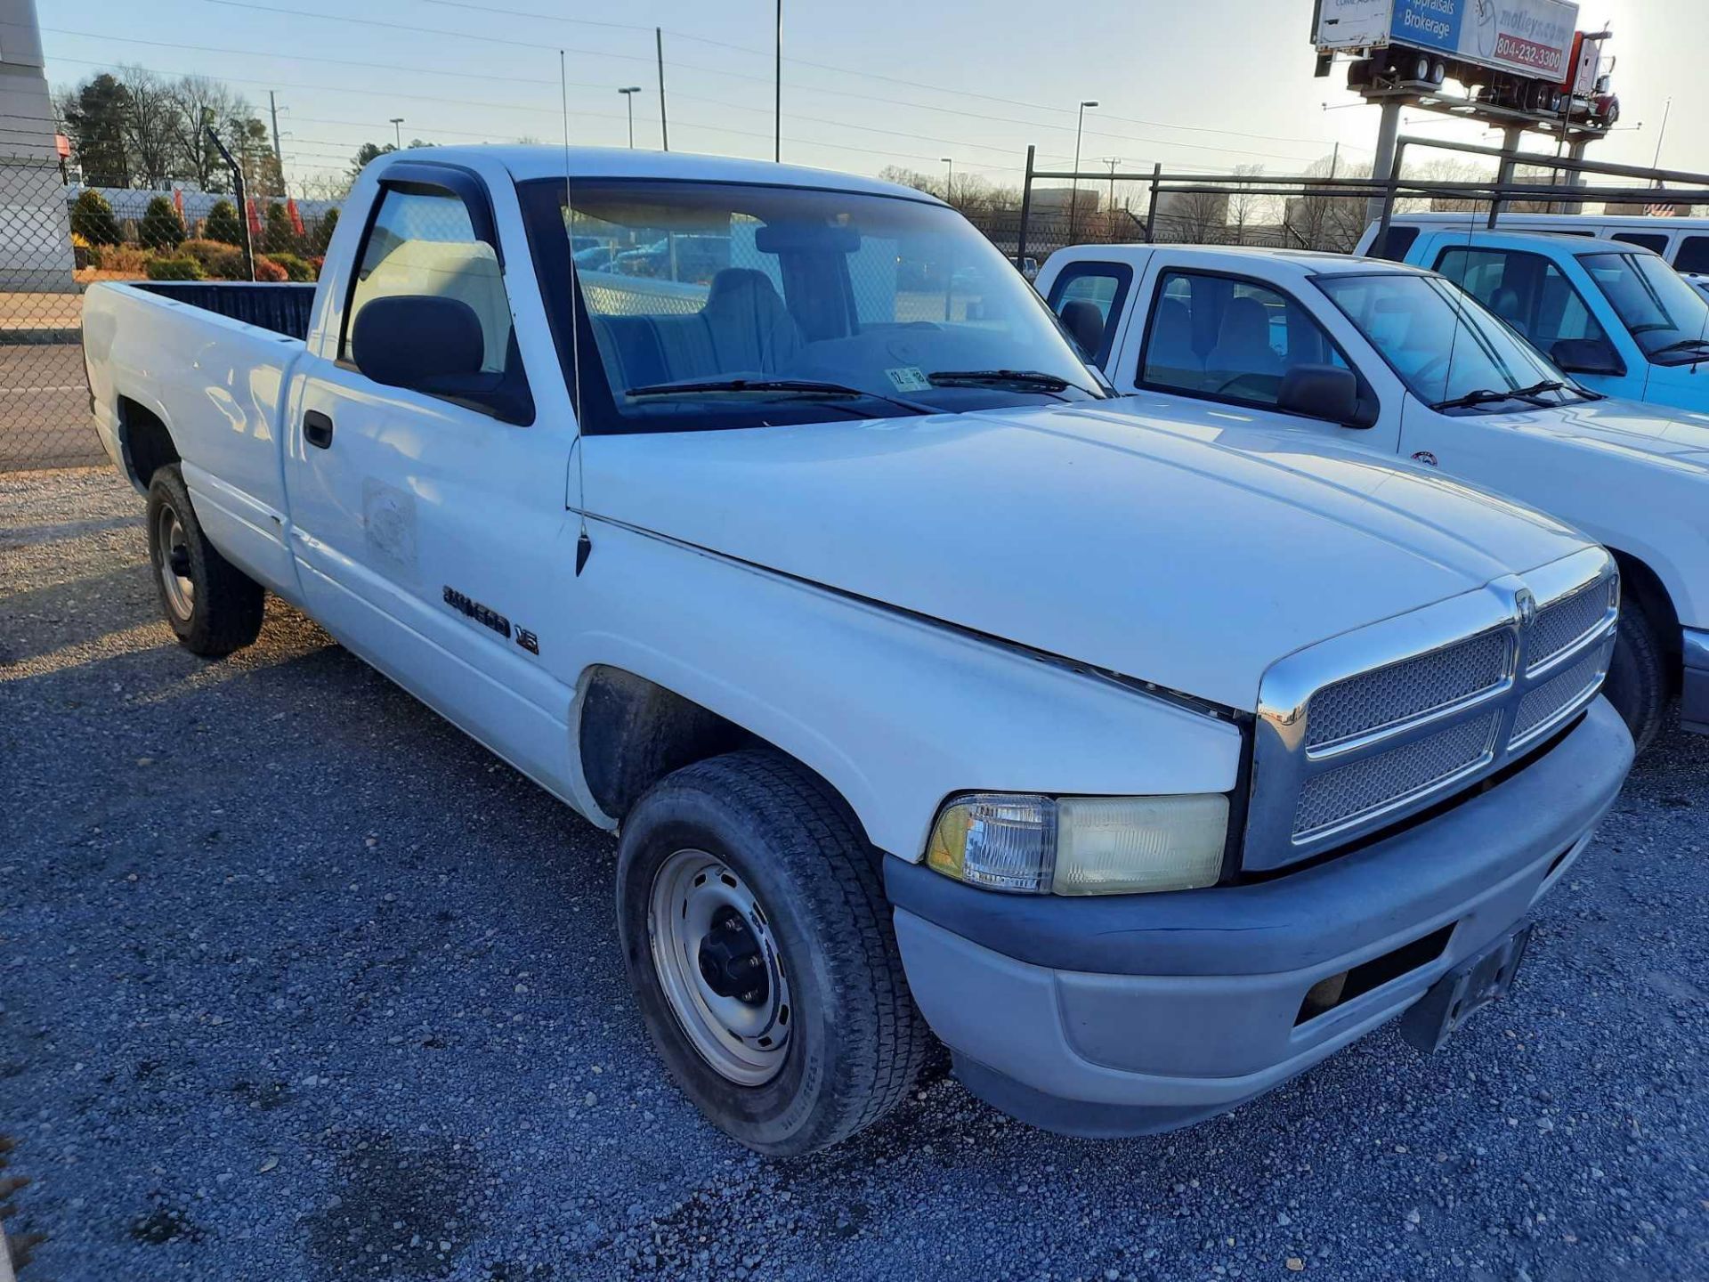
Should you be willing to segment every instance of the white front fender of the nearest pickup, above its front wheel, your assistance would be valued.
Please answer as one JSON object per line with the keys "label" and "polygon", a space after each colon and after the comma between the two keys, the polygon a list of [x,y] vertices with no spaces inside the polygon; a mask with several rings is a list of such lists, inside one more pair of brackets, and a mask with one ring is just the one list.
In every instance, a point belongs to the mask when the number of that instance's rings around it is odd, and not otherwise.
{"label": "white front fender of the nearest pickup, above its front wheel", "polygon": [[600,624],[583,673],[644,677],[795,756],[904,860],[957,791],[1236,786],[1230,720],[701,549],[596,523],[578,586]]}

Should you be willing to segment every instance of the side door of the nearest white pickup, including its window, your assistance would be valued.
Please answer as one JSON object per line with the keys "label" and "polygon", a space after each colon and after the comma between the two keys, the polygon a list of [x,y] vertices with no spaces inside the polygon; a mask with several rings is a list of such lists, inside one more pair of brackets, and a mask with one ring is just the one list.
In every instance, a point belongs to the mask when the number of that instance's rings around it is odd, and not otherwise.
{"label": "side door of the nearest white pickup, including its window", "polygon": [[[514,258],[528,263],[525,250]],[[285,451],[304,597],[350,650],[559,785],[571,694],[550,660],[567,629],[549,615],[574,595],[574,424],[535,414],[530,374],[557,371],[523,366],[485,185],[451,166],[390,166],[354,263],[337,333],[301,366]],[[520,280],[533,287],[526,267]],[[398,350],[405,364],[420,350],[410,308],[426,318],[443,299],[479,320],[480,371],[400,379]],[[364,373],[354,342],[379,301],[386,328],[362,333],[398,349],[390,383]]]}

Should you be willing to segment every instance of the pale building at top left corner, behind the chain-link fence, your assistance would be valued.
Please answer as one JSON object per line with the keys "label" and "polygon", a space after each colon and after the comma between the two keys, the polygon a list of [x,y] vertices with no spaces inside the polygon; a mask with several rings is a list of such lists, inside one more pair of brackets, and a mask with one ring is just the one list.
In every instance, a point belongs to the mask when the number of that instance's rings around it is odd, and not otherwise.
{"label": "pale building at top left corner, behind the chain-link fence", "polygon": [[72,224],[34,0],[0,0],[0,291],[67,292]]}

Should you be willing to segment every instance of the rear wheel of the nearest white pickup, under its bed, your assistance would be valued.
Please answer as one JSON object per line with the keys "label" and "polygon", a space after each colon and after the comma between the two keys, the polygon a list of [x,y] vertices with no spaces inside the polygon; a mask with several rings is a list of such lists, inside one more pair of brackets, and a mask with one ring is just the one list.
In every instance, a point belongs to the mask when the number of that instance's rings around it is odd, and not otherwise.
{"label": "rear wheel of the nearest white pickup, under its bed", "polygon": [[[149,482],[147,520],[154,588],[179,644],[203,658],[224,658],[255,641],[267,593],[202,533],[178,463],[156,468]],[[169,574],[171,561],[176,564]],[[190,591],[179,588],[174,593],[169,579],[188,581]]]}

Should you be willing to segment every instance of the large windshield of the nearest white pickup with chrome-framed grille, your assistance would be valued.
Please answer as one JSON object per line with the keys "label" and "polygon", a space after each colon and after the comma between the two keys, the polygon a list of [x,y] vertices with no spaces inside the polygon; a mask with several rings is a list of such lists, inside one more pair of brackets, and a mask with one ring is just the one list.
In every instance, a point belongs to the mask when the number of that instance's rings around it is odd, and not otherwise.
{"label": "large windshield of the nearest white pickup with chrome-framed grille", "polygon": [[578,181],[571,203],[562,181],[523,185],[564,368],[579,356],[588,431],[1109,395],[1013,265],[940,205],[651,179]]}

